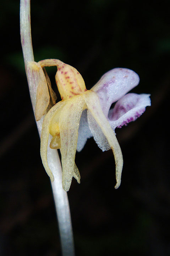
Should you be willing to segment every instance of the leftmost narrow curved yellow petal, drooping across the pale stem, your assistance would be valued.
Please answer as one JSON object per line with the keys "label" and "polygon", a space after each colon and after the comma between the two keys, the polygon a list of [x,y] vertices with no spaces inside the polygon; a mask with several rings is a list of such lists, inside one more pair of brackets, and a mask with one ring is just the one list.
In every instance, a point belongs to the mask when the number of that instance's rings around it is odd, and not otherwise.
{"label": "leftmost narrow curved yellow petal, drooping across the pale stem", "polygon": [[54,176],[48,166],[48,160],[47,160],[47,145],[48,145],[48,138],[50,133],[50,124],[54,116],[56,117],[57,114],[59,115],[60,111],[62,110],[65,104],[66,104],[66,101],[60,101],[55,106],[53,106],[49,110],[49,112],[46,114],[43,121],[43,125],[42,125],[40,154],[41,154],[45,171],[50,176],[51,181],[54,181]]}

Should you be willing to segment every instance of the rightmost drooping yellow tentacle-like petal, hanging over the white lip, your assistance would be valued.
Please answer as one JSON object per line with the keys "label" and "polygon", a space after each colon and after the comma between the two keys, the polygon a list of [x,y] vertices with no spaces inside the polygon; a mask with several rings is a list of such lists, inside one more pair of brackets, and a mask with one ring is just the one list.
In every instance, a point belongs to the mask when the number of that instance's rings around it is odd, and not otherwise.
{"label": "rightmost drooping yellow tentacle-like petal, hanging over the white lip", "polygon": [[[115,157],[115,164],[116,164],[116,181],[117,181],[115,188],[118,188],[121,182],[121,172],[123,167],[123,157],[122,157],[120,145],[117,142],[116,135],[112,130],[108,120],[104,116],[97,94],[93,91],[87,91],[86,94],[83,94],[83,97],[86,102],[88,110],[91,111],[92,116],[100,126],[102,132],[104,133],[106,139],[108,140],[108,143],[111,149],[113,150],[113,154]],[[90,124],[89,124],[89,127],[91,127]]]}

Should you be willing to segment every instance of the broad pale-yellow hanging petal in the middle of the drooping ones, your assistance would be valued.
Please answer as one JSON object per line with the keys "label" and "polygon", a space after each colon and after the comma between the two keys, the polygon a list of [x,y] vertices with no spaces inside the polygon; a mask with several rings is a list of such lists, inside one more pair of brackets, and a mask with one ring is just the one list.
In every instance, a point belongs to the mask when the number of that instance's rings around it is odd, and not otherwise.
{"label": "broad pale-yellow hanging petal in the middle of the drooping ones", "polygon": [[59,120],[62,161],[62,185],[68,191],[74,176],[79,182],[80,176],[75,165],[79,121],[85,105],[81,95],[66,101]]}

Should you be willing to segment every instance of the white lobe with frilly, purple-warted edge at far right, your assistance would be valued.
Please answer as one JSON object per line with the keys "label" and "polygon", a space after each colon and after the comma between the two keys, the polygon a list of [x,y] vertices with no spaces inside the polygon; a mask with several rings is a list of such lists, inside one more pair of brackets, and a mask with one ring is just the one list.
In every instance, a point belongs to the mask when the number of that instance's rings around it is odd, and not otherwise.
{"label": "white lobe with frilly, purple-warted edge at far right", "polygon": [[111,128],[121,128],[141,116],[146,106],[151,105],[149,96],[150,94],[129,93],[117,101],[108,114]]}

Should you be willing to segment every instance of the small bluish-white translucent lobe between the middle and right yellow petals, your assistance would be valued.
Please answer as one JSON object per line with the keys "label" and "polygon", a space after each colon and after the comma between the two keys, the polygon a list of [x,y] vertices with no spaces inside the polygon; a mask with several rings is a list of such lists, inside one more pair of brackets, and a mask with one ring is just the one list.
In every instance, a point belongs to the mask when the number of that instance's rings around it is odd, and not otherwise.
{"label": "small bluish-white translucent lobe between the middle and right yellow petals", "polygon": [[87,142],[87,139],[91,138],[93,135],[89,129],[87,122],[87,109],[82,112],[80,125],[78,129],[78,140],[77,140],[77,151],[81,151]]}

